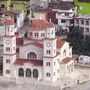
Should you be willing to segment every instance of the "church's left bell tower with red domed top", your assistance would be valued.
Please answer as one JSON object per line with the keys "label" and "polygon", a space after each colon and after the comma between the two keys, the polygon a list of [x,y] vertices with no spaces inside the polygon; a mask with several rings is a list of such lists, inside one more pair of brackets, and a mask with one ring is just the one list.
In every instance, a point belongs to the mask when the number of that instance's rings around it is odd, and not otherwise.
{"label": "church's left bell tower with red domed top", "polygon": [[9,19],[4,22],[5,35],[3,36],[3,76],[12,77],[12,65],[16,60],[15,24]]}

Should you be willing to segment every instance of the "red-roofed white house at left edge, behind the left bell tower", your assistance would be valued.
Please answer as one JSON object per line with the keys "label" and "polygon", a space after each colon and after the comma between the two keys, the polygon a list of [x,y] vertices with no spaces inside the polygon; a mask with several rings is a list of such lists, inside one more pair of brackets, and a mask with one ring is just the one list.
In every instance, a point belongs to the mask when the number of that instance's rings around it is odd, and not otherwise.
{"label": "red-roofed white house at left edge, behind the left bell tower", "polygon": [[4,20],[6,18],[11,18],[14,20],[17,27],[22,27],[24,24],[25,19],[25,12],[24,10],[11,10],[11,11],[5,11],[0,10],[0,19]]}

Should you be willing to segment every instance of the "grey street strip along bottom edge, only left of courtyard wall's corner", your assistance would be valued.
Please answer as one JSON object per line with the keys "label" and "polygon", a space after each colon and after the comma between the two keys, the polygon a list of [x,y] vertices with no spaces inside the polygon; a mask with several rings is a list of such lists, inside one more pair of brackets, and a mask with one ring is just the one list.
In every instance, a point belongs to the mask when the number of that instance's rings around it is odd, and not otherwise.
{"label": "grey street strip along bottom edge, only left of courtyard wall's corner", "polygon": [[46,85],[16,85],[13,83],[0,83],[0,90],[60,90],[58,87],[51,87]]}

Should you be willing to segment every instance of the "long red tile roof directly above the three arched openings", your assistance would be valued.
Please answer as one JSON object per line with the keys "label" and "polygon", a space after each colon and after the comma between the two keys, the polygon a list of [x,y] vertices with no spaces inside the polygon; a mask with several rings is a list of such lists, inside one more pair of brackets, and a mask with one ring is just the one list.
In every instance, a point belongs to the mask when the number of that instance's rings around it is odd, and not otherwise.
{"label": "long red tile roof directly above the three arched openings", "polygon": [[14,65],[23,65],[24,63],[31,63],[34,66],[43,66],[43,60],[20,59],[20,58],[17,58],[13,64]]}

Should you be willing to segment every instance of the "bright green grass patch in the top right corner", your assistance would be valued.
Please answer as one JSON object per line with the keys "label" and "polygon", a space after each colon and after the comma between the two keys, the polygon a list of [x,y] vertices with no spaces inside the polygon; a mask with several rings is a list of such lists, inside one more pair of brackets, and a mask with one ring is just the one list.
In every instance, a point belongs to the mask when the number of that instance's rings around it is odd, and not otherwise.
{"label": "bright green grass patch in the top right corner", "polygon": [[78,2],[77,0],[75,0],[75,4],[78,6],[78,14],[82,14],[82,15],[90,14],[89,2]]}

